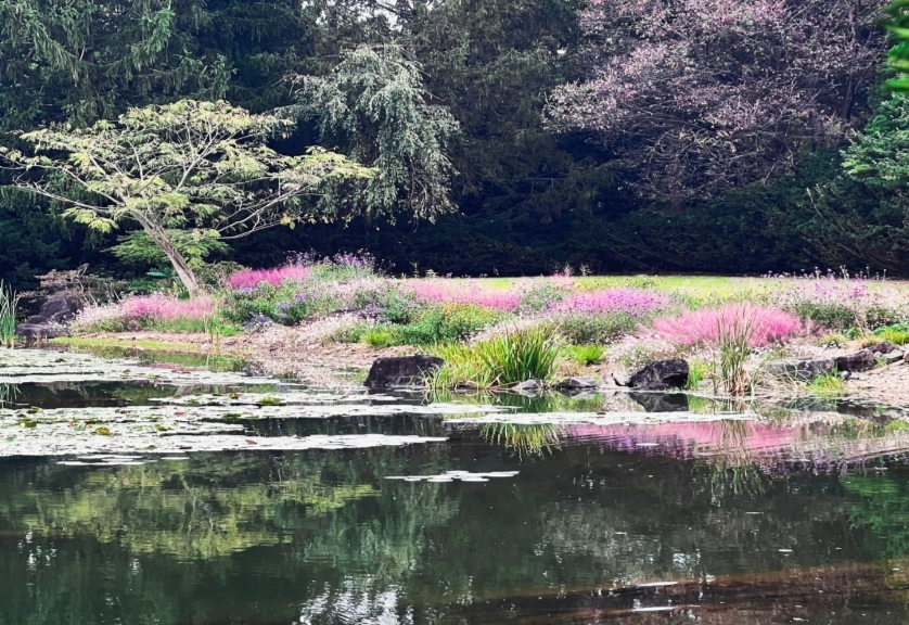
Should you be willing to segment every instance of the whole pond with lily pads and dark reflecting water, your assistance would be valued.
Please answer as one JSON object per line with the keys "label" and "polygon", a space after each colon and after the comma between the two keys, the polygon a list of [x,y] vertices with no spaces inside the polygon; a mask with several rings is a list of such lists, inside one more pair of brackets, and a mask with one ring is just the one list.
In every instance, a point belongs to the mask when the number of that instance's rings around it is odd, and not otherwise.
{"label": "whole pond with lily pads and dark reflecting water", "polygon": [[435,399],[0,350],[0,625],[909,617],[901,410]]}

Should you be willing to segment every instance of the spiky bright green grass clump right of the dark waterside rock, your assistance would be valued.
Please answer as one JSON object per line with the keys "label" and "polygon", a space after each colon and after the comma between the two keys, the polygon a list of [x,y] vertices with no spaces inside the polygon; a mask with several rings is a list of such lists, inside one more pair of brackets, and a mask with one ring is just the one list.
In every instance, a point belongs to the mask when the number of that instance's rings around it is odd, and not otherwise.
{"label": "spiky bright green grass clump right of the dark waterside rock", "polygon": [[561,352],[551,328],[513,330],[473,345],[436,347],[445,366],[427,379],[431,388],[492,388],[526,380],[548,380],[555,372]]}

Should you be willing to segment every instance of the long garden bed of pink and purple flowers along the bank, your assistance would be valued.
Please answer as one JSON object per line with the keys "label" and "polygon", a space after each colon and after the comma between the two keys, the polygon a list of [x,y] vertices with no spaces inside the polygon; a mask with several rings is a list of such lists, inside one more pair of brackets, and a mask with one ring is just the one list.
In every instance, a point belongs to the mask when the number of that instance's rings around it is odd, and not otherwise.
{"label": "long garden bed of pink and purple flowers along the bank", "polygon": [[[909,343],[909,286],[842,273],[763,278],[573,277],[469,280],[395,278],[369,256],[304,257],[244,269],[184,299],[166,292],[84,308],[76,334],[195,332],[232,344],[283,328],[357,353],[434,352],[545,329],[559,372],[615,378],[648,361],[683,357],[692,382],[716,375],[725,333],[754,367],[768,358]],[[244,337],[248,340],[244,340]],[[255,354],[252,354],[254,358]]]}

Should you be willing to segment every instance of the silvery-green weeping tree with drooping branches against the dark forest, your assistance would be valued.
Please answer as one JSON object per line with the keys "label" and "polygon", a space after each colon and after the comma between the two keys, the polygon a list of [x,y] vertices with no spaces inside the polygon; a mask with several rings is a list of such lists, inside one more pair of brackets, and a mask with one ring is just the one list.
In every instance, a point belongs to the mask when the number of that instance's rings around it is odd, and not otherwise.
{"label": "silvery-green weeping tree with drooping branches against the dark forest", "polygon": [[458,123],[428,102],[420,66],[399,46],[359,46],[328,76],[293,81],[298,103],[281,114],[315,122],[321,144],[375,168],[368,179],[328,180],[323,205],[370,217],[404,208],[422,219],[454,211],[447,149]]}

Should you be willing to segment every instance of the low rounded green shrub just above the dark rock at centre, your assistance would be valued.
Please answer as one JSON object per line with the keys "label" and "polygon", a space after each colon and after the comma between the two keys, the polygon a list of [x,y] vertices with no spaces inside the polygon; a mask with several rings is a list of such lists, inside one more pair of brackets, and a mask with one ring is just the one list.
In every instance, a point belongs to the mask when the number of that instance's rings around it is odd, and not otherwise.
{"label": "low rounded green shrub just above the dark rock at centre", "polygon": [[394,327],[392,332],[401,345],[456,343],[501,318],[475,304],[440,304],[423,310],[407,326]]}

